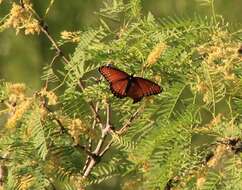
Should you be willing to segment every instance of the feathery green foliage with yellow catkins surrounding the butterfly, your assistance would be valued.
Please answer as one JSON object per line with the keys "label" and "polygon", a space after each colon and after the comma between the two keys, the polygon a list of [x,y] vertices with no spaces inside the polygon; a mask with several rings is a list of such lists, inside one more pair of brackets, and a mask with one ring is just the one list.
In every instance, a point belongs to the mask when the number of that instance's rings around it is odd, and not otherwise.
{"label": "feathery green foliage with yellow catkins surrounding the butterfly", "polygon": [[[100,26],[80,31],[70,61],[43,69],[44,89],[1,83],[4,188],[78,189],[121,176],[126,190],[127,178],[136,189],[242,189],[240,33],[214,13],[142,16],[138,0],[107,1],[97,14]],[[97,72],[107,63],[163,92],[117,99]],[[95,164],[85,176],[87,156]]]}

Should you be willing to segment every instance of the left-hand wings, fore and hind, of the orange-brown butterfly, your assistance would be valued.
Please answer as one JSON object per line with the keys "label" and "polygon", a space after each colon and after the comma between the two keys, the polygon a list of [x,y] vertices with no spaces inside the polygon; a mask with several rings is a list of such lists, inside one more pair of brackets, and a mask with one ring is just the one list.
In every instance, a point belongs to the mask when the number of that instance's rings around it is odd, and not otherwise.
{"label": "left-hand wings, fore and hind, of the orange-brown butterfly", "polygon": [[126,88],[128,86],[129,75],[124,71],[111,66],[102,66],[99,72],[109,82],[110,90],[118,98],[126,97]]}

